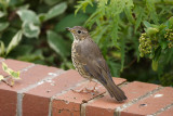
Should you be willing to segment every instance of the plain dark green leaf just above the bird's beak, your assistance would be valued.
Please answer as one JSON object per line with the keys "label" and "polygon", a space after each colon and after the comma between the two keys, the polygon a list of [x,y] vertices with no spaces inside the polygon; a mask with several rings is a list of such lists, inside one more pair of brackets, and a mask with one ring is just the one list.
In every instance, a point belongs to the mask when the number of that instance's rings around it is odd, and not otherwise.
{"label": "plain dark green leaf just above the bird's beak", "polygon": [[57,23],[57,25],[55,26],[55,30],[64,31],[66,27],[74,27],[76,25],[81,25],[84,21],[86,21],[86,18],[88,16],[84,14],[77,14],[77,15],[69,14]]}

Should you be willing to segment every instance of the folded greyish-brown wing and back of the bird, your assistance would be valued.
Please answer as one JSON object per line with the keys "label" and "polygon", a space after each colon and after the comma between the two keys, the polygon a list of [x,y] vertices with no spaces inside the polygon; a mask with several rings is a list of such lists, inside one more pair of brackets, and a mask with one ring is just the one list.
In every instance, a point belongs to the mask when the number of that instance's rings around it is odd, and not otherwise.
{"label": "folded greyish-brown wing and back of the bird", "polygon": [[94,79],[103,85],[112,80],[109,68],[104,60],[97,44],[90,38],[81,41],[77,47],[78,61],[82,63],[83,69]]}

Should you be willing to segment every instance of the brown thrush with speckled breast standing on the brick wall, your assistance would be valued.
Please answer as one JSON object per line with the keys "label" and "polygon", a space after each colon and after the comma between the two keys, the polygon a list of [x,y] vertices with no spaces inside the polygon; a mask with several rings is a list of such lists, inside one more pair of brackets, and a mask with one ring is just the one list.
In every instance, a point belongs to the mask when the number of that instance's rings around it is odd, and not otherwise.
{"label": "brown thrush with speckled breast standing on the brick wall", "polygon": [[102,83],[117,102],[125,101],[125,93],[114,82],[109,67],[89,31],[82,26],[66,29],[74,36],[71,60],[78,73],[90,81]]}

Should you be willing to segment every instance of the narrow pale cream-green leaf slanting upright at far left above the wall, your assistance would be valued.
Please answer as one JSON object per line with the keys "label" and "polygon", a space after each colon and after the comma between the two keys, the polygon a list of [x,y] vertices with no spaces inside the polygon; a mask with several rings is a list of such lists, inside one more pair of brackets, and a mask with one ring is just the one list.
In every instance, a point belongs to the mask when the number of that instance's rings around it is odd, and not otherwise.
{"label": "narrow pale cream-green leaf slanting upright at far left above the wall", "polygon": [[10,53],[11,50],[13,50],[22,40],[23,31],[19,30],[10,41],[8,49],[6,49],[6,54]]}

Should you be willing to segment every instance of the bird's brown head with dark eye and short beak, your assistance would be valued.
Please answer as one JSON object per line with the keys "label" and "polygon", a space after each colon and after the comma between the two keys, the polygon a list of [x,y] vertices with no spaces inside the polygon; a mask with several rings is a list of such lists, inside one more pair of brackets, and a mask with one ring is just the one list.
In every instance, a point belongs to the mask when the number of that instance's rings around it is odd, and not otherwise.
{"label": "bird's brown head with dark eye and short beak", "polygon": [[88,30],[81,26],[75,26],[72,28],[67,27],[66,29],[72,34],[76,40],[83,40],[89,36]]}

